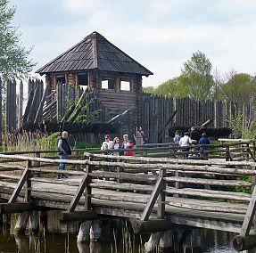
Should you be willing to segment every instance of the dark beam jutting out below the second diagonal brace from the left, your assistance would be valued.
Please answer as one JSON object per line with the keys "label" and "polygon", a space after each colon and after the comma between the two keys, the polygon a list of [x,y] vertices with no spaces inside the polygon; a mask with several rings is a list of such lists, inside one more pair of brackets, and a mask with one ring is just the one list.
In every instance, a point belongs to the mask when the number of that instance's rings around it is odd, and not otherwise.
{"label": "dark beam jutting out below the second diagonal brace from the left", "polygon": [[60,222],[69,223],[76,221],[87,221],[98,218],[99,216],[94,211],[75,211],[75,212],[62,212],[59,217]]}

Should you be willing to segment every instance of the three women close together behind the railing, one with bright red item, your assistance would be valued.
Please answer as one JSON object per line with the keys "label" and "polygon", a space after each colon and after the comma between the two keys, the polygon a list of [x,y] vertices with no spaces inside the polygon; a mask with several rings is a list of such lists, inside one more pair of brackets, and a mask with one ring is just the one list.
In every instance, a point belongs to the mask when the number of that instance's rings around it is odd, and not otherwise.
{"label": "three women close together behind the railing, one with bright red item", "polygon": [[[128,139],[128,135],[123,135],[123,142],[120,143],[120,138],[119,137],[114,137],[113,141],[110,139],[110,135],[106,134],[104,136],[104,141],[101,146],[102,151],[110,151],[111,155],[114,156],[120,156],[124,155],[123,152],[120,151],[115,151],[115,150],[120,150],[120,149],[132,149],[134,148],[135,145]],[[134,156],[135,151],[126,151],[125,155],[127,156]]]}

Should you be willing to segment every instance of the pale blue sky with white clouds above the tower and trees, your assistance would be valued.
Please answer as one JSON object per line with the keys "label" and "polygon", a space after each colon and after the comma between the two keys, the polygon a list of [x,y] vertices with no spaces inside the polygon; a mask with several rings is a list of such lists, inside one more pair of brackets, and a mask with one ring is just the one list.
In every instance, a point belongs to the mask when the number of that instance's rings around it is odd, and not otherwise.
{"label": "pale blue sky with white clouds above the tower and trees", "polygon": [[[97,31],[128,53],[158,86],[201,51],[213,69],[256,73],[255,0],[10,0],[21,42],[37,69]],[[33,73],[33,77],[36,75]]]}

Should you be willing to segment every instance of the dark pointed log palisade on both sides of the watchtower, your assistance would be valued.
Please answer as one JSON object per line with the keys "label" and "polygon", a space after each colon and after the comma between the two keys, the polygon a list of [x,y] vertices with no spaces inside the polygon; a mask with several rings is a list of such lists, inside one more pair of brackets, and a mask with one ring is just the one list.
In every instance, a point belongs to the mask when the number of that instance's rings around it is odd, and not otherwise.
{"label": "dark pointed log palisade on both sides of the watchtower", "polygon": [[[41,80],[29,79],[28,102],[23,111],[23,84],[20,84],[20,92],[17,93],[16,82],[9,80],[6,84],[5,122],[6,134],[12,133],[22,124],[32,123],[37,125],[54,119],[62,121],[70,112],[70,104],[78,100],[83,94],[82,88],[58,84],[55,91],[50,92]],[[87,101],[90,103],[88,111],[101,110],[100,121],[109,120],[110,114],[99,102],[97,94],[90,94]],[[1,101],[1,97],[0,97]],[[170,98],[164,96],[143,95],[142,102],[142,126],[150,143],[158,143],[160,135],[162,142],[169,143],[169,127],[172,126],[200,126],[208,119],[212,119],[211,127],[230,126],[231,118],[238,113],[243,113],[243,126],[256,121],[255,104],[244,104],[243,110],[232,102],[205,101],[199,102],[189,98]],[[72,108],[75,110],[75,108]],[[71,113],[71,112],[70,112]],[[128,121],[128,118],[126,119]],[[1,120],[0,120],[1,121]],[[135,129],[131,129],[134,132]],[[161,134],[162,133],[162,134]],[[124,133],[123,133],[124,134]],[[1,138],[0,138],[1,139]]]}

